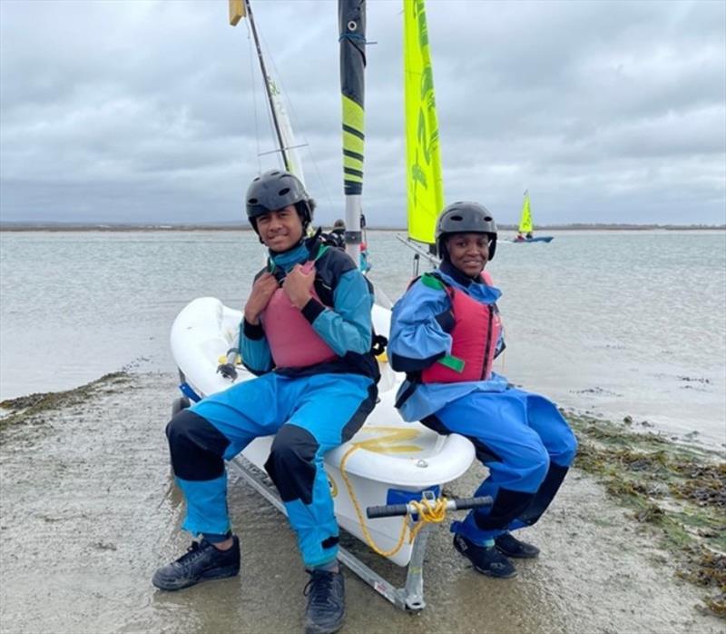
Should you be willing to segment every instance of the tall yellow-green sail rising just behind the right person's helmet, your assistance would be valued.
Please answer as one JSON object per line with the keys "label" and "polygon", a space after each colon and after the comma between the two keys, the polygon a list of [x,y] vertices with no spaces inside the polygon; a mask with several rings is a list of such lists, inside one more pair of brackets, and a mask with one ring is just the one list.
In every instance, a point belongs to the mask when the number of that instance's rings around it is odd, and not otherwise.
{"label": "tall yellow-green sail rising just behind the right person's helmet", "polygon": [[444,183],[426,8],[424,0],[404,0],[403,5],[408,237],[433,244],[437,215],[444,207]]}

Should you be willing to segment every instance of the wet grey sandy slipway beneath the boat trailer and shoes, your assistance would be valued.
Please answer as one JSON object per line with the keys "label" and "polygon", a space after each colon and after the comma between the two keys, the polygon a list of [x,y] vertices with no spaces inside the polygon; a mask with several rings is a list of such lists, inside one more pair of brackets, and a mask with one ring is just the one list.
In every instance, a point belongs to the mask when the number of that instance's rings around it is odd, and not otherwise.
{"label": "wet grey sandy slipway beneath the boat trailer and shoes", "polygon": [[[242,542],[239,578],[176,593],[153,571],[185,550],[163,426],[174,377],[120,375],[48,409],[0,421],[0,631],[299,632],[307,576],[286,520],[231,472]],[[476,467],[447,487],[470,494]],[[523,533],[524,534],[524,533]],[[526,539],[542,549],[514,580],[466,565],[446,528],[427,550],[420,614],[395,609],[346,572],[344,632],[722,632],[702,592],[675,576],[672,554],[574,470]],[[403,572],[367,553],[384,576]]]}

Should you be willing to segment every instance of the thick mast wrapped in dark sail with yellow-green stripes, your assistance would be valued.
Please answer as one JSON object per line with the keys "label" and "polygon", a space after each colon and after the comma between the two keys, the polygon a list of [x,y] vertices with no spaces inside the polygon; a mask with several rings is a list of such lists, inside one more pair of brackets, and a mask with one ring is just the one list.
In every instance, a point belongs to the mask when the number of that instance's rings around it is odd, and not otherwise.
{"label": "thick mast wrapped in dark sail with yellow-green stripes", "polygon": [[343,102],[343,187],[346,253],[358,263],[363,193],[366,0],[338,0],[340,93]]}

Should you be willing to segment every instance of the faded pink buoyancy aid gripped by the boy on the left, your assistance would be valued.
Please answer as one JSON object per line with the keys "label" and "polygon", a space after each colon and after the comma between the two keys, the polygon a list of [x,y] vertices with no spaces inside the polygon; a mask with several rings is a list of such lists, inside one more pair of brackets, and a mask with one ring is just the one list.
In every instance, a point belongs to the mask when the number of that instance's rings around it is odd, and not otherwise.
{"label": "faded pink buoyancy aid gripped by the boy on the left", "polygon": [[[313,262],[307,262],[303,270],[309,272],[313,266]],[[310,292],[320,302],[315,289]],[[279,368],[307,368],[330,362],[338,356],[281,288],[272,293],[270,302],[260,314],[260,321],[270,344],[272,360]]]}

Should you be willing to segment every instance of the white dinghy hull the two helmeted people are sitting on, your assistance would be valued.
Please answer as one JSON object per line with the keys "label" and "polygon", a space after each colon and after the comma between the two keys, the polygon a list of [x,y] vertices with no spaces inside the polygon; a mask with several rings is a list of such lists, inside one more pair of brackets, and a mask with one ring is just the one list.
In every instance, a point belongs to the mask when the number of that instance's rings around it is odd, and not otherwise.
{"label": "white dinghy hull the two helmeted people are sitting on", "polygon": [[[209,396],[233,384],[216,370],[221,357],[234,345],[241,317],[240,311],[224,306],[219,300],[202,297],[189,303],[174,321],[172,355],[186,383],[198,395]],[[373,322],[377,332],[388,335],[388,309],[374,306]],[[338,524],[364,541],[368,530],[378,550],[386,552],[397,545],[403,520],[367,520],[366,508],[401,502],[397,496],[404,491],[418,492],[456,480],[469,468],[475,452],[471,442],[462,436],[439,436],[420,423],[402,421],[394,401],[403,377],[386,362],[380,366],[380,401],[358,434],[329,452],[325,467]],[[253,378],[244,368],[238,367],[238,373],[234,382]],[[271,441],[272,437],[259,438],[242,453],[263,469]],[[353,448],[355,451],[346,459]],[[405,566],[410,560],[411,548],[406,539],[401,549],[388,559]]]}

